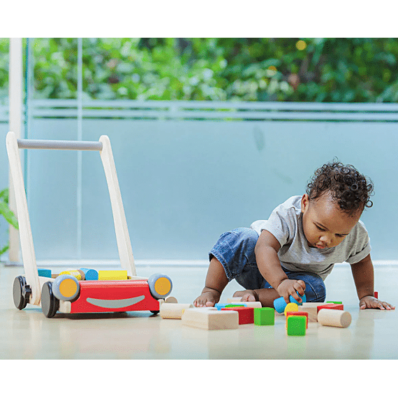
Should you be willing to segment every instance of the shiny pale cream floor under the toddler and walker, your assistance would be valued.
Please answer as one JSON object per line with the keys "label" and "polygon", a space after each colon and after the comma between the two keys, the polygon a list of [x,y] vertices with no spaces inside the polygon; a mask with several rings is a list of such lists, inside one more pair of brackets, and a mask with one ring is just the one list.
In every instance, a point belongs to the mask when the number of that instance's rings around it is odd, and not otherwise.
{"label": "shiny pale cream floor under the toddler and walker", "polygon": [[[59,269],[61,271],[61,269]],[[138,275],[168,274],[172,295],[192,302],[202,290],[205,267],[138,267]],[[75,315],[45,318],[30,304],[22,311],[12,299],[22,267],[0,266],[0,359],[398,359],[398,312],[358,309],[351,271],[337,265],[326,279],[327,300],[344,302],[349,327],[310,323],[305,337],[286,336],[284,316],[274,326],[240,325],[237,330],[184,327],[151,313]],[[379,297],[397,305],[397,267],[376,268]],[[227,286],[223,299],[239,285]],[[221,300],[222,301],[222,300]]]}

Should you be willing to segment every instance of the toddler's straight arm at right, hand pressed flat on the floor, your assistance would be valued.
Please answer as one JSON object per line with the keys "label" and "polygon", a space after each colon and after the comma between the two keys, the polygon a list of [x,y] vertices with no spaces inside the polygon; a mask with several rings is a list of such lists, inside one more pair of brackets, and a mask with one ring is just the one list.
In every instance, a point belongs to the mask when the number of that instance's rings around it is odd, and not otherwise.
{"label": "toddler's straight arm at right, hand pressed flat on the floor", "polygon": [[351,271],[360,299],[360,309],[395,309],[388,302],[382,302],[374,297],[374,270],[370,254],[360,262],[352,264]]}

